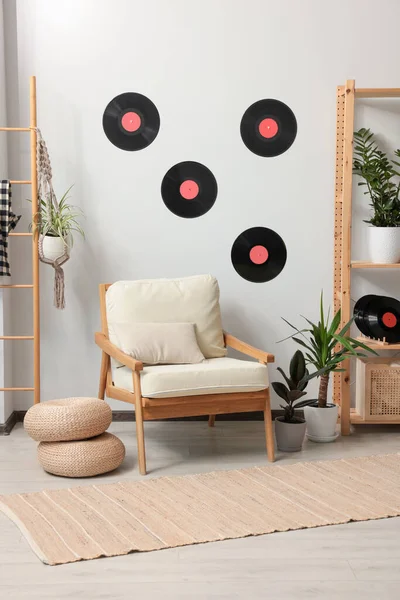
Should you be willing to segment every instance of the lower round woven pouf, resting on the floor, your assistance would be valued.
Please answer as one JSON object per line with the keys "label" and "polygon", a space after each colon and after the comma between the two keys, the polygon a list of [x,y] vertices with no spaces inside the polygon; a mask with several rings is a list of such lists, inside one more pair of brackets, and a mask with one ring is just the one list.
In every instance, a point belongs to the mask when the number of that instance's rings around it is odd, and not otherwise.
{"label": "lower round woven pouf, resting on the floor", "polygon": [[125,458],[125,446],[112,433],[90,440],[40,442],[38,459],[43,469],[63,477],[93,477],[113,471]]}

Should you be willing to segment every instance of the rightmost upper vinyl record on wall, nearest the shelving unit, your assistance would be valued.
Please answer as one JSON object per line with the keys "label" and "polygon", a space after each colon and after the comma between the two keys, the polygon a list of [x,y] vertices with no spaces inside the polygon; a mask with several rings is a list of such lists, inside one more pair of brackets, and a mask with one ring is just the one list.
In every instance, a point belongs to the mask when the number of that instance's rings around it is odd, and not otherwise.
{"label": "rightmost upper vinyl record on wall, nearest the shelving unit", "polygon": [[258,156],[278,156],[293,144],[297,121],[293,111],[280,100],[259,100],[244,113],[240,135]]}

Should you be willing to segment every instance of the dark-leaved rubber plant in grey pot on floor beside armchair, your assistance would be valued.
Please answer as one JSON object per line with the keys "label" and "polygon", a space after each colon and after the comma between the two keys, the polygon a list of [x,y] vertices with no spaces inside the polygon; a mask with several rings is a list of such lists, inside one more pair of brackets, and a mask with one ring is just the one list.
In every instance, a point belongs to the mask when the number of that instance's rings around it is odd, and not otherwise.
{"label": "dark-leaved rubber plant in grey pot on floor beside armchair", "polygon": [[284,378],[286,385],[280,381],[273,381],[272,387],[280,398],[286,404],[280,405],[283,408],[283,416],[275,419],[275,437],[279,450],[283,452],[298,452],[303,445],[304,436],[306,433],[306,421],[302,417],[296,415],[295,410],[304,408],[308,404],[312,404],[315,400],[300,400],[307,395],[305,388],[310,379],[317,377],[318,372],[310,373],[306,368],[306,361],[301,350],[296,350],[289,366],[289,377],[278,367]]}

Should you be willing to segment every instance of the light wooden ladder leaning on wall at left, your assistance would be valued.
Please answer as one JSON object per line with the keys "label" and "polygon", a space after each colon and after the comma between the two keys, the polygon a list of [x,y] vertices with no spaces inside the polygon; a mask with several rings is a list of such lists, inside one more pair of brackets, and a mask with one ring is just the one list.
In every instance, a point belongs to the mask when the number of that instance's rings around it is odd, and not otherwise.
{"label": "light wooden ladder leaning on wall at left", "polygon": [[36,77],[30,78],[30,124],[29,127],[0,127],[0,131],[25,131],[30,133],[31,147],[31,178],[28,180],[14,180],[11,184],[31,186],[32,198],[32,232],[31,233],[9,233],[15,237],[32,238],[32,283],[18,285],[0,285],[0,288],[26,289],[33,292],[33,335],[3,335],[0,340],[32,340],[33,341],[33,387],[4,387],[0,392],[33,392],[34,404],[40,402],[40,303],[39,303],[39,251],[38,251],[38,228],[36,219],[38,213],[38,182],[36,166]]}

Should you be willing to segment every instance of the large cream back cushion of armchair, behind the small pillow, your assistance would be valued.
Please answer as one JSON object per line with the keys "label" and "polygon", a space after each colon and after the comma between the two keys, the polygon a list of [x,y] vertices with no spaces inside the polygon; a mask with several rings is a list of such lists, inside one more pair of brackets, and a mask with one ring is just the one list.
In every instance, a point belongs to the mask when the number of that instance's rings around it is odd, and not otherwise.
{"label": "large cream back cushion of armchair, behind the small pillow", "polygon": [[218,282],[212,275],[117,281],[106,292],[110,341],[115,323],[194,323],[206,358],[226,356]]}

